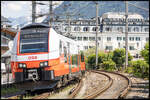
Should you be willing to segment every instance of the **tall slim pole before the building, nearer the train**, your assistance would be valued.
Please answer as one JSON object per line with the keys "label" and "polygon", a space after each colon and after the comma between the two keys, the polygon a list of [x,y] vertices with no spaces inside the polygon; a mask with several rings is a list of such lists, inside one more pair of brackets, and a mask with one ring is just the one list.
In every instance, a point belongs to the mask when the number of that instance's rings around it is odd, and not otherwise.
{"label": "tall slim pole before the building, nearer the train", "polygon": [[98,1],[96,3],[96,68],[98,67],[98,44],[97,44],[97,34],[98,34]]}

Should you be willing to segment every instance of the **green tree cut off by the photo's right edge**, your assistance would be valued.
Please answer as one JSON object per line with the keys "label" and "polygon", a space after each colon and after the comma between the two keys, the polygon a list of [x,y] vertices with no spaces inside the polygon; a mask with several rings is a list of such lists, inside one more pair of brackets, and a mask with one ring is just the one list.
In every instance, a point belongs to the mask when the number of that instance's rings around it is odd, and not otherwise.
{"label": "green tree cut off by the photo's right edge", "polygon": [[141,51],[144,60],[149,64],[149,42],[146,43],[145,48]]}

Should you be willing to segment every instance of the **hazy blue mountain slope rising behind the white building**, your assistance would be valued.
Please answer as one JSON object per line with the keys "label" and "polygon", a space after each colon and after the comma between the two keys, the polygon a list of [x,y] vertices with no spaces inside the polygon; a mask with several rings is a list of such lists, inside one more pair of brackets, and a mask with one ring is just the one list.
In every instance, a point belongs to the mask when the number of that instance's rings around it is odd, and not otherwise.
{"label": "hazy blue mountain slope rising behind the white building", "polygon": [[[98,3],[99,16],[106,12],[125,12],[125,2],[123,1],[98,1]],[[149,9],[149,1],[129,1],[129,3]],[[69,4],[71,4],[71,6],[68,6],[68,8],[63,8],[64,5]],[[131,5],[128,7],[129,12],[141,14],[143,17],[149,17],[148,11]],[[95,17],[96,8],[93,1],[64,1],[54,10],[57,15],[65,14],[65,11],[70,12],[71,14],[80,14],[83,18],[92,18]],[[73,18],[78,18],[78,16],[74,16]]]}

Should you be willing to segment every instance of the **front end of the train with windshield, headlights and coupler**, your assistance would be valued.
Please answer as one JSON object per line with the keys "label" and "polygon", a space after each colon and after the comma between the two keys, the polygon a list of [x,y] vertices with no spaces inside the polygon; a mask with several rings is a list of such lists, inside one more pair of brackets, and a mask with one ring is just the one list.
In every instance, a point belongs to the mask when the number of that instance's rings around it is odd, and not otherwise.
{"label": "front end of the train with windshield, headlights and coupler", "polygon": [[[30,24],[23,27],[14,39],[11,69],[16,83],[54,79],[49,66],[49,26]],[[53,58],[58,58],[53,55]]]}

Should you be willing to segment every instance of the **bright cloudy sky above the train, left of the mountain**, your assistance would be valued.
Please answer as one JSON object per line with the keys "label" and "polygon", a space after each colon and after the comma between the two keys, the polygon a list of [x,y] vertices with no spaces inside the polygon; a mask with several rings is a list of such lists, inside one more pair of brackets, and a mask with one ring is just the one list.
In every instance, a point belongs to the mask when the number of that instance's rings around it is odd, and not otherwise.
{"label": "bright cloudy sky above the train, left of the mountain", "polygon": [[[48,1],[37,2],[49,4]],[[60,5],[62,2],[63,1],[53,1],[53,3],[57,3],[58,5]],[[21,16],[31,17],[31,4],[31,1],[1,1],[1,15],[6,18],[17,18]],[[54,6],[54,8],[55,7],[56,6]],[[48,12],[48,5],[37,5],[36,9],[38,13],[40,13],[41,11]]]}

